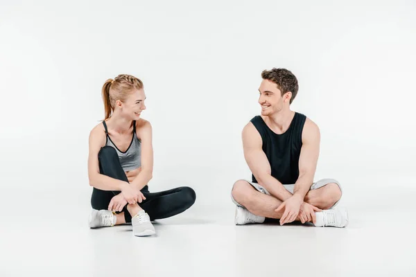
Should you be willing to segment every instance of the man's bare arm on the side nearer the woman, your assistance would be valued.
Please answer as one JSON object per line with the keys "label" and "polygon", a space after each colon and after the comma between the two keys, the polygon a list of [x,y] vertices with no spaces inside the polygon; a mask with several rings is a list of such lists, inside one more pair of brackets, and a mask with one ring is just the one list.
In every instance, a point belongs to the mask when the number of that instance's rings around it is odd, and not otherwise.
{"label": "man's bare arm on the side nearer the woman", "polygon": [[250,122],[243,129],[244,158],[257,181],[270,195],[284,201],[292,196],[284,186],[271,175],[270,163],[261,149],[262,141],[256,127]]}

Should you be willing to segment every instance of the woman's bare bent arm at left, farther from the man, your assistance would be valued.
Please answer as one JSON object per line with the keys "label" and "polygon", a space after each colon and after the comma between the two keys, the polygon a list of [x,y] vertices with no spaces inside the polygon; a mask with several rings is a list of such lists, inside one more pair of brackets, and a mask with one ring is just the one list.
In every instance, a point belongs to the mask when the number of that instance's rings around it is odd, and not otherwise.
{"label": "woman's bare bent arm at left, farther from the man", "polygon": [[102,175],[98,164],[98,152],[105,145],[105,133],[98,125],[89,134],[88,179],[89,186],[100,190],[123,190],[128,182]]}

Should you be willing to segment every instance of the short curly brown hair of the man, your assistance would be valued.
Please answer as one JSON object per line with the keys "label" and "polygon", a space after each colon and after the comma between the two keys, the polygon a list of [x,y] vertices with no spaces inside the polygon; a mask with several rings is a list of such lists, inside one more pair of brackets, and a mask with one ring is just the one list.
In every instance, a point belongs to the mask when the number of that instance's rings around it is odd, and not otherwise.
{"label": "short curly brown hair of the man", "polygon": [[284,96],[284,93],[291,91],[292,98],[289,103],[292,104],[293,99],[295,99],[297,95],[299,84],[297,84],[297,78],[291,71],[276,68],[273,68],[272,70],[263,70],[263,72],[261,72],[261,78],[277,84],[277,88],[281,91],[281,96]]}

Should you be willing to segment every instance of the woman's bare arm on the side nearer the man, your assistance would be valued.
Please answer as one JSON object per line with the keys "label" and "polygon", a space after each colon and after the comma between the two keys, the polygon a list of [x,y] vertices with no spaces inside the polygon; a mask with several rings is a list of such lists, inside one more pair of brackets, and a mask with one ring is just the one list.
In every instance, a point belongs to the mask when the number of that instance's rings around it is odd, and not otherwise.
{"label": "woman's bare arm on the side nearer the man", "polygon": [[137,127],[137,132],[141,139],[141,171],[130,184],[141,190],[153,177],[152,125],[144,121],[143,126]]}

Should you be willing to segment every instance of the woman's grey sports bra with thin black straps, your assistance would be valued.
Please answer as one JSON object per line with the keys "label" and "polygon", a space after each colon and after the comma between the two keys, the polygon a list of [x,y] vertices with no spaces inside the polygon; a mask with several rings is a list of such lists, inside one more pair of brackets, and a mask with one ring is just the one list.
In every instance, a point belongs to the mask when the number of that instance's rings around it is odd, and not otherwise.
{"label": "woman's grey sports bra with thin black straps", "polygon": [[107,136],[105,145],[109,145],[116,150],[123,170],[130,171],[139,168],[141,166],[141,142],[136,135],[136,121],[133,121],[132,141],[125,152],[120,151],[119,148],[117,148],[117,146],[112,142],[110,136],[108,135],[107,124],[105,124],[105,121],[103,121],[103,125],[105,135]]}

